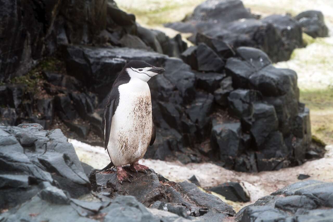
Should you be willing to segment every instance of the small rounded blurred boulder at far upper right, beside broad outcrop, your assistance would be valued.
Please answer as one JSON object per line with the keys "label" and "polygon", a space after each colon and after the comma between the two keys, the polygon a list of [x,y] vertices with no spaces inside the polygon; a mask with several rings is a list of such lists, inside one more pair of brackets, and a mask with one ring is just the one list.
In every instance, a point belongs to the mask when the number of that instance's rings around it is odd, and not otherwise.
{"label": "small rounded blurred boulder at far upper right, beside broad outcrop", "polygon": [[324,15],[320,11],[305,11],[295,17],[302,26],[303,32],[313,38],[327,37],[328,28],[324,22]]}

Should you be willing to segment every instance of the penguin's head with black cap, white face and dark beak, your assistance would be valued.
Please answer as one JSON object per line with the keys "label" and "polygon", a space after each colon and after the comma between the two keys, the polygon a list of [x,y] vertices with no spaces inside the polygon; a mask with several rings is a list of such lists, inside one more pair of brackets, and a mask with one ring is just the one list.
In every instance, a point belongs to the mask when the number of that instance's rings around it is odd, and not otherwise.
{"label": "penguin's head with black cap, white face and dark beak", "polygon": [[124,69],[131,78],[141,79],[145,82],[165,71],[163,68],[152,66],[144,61],[131,61],[126,64]]}

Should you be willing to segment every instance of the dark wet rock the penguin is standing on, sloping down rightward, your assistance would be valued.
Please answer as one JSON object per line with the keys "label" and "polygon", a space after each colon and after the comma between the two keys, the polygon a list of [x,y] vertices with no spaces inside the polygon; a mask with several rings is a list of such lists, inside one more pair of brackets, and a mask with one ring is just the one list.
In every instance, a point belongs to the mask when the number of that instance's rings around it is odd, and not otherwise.
{"label": "dark wet rock the penguin is standing on, sloping down rightward", "polygon": [[[125,170],[129,171],[127,167]],[[109,192],[111,197],[133,195],[146,207],[164,209],[185,218],[200,219],[207,210],[214,210],[225,219],[234,215],[231,206],[211,194],[200,191],[195,184],[167,181],[154,171],[149,171],[148,174],[129,172],[134,176],[131,178],[132,182],[124,182],[123,185],[119,184],[115,171],[96,173],[93,169],[88,176],[97,192]]]}

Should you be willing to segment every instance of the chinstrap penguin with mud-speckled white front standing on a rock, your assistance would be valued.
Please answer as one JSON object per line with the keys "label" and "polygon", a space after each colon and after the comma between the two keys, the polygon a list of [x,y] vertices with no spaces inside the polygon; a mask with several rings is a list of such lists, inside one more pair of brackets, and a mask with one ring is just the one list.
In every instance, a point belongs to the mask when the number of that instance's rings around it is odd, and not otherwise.
{"label": "chinstrap penguin with mud-speckled white front standing on a rock", "polygon": [[[105,144],[111,162],[101,171],[117,168],[117,179],[131,182],[133,177],[124,165],[136,173],[149,168],[139,164],[149,145],[156,137],[152,114],[152,98],[148,81],[165,72],[165,69],[143,61],[131,61],[125,65],[111,88],[103,111]],[[107,171],[106,171],[107,172]],[[109,171],[110,172],[110,171]]]}

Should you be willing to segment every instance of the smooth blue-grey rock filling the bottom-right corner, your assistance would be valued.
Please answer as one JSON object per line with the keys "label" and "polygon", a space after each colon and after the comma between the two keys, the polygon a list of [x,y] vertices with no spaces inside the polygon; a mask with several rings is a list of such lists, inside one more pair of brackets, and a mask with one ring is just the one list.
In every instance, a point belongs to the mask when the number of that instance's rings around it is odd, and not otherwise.
{"label": "smooth blue-grey rock filling the bottom-right corner", "polygon": [[331,221],[333,183],[307,180],[241,209],[235,221]]}

